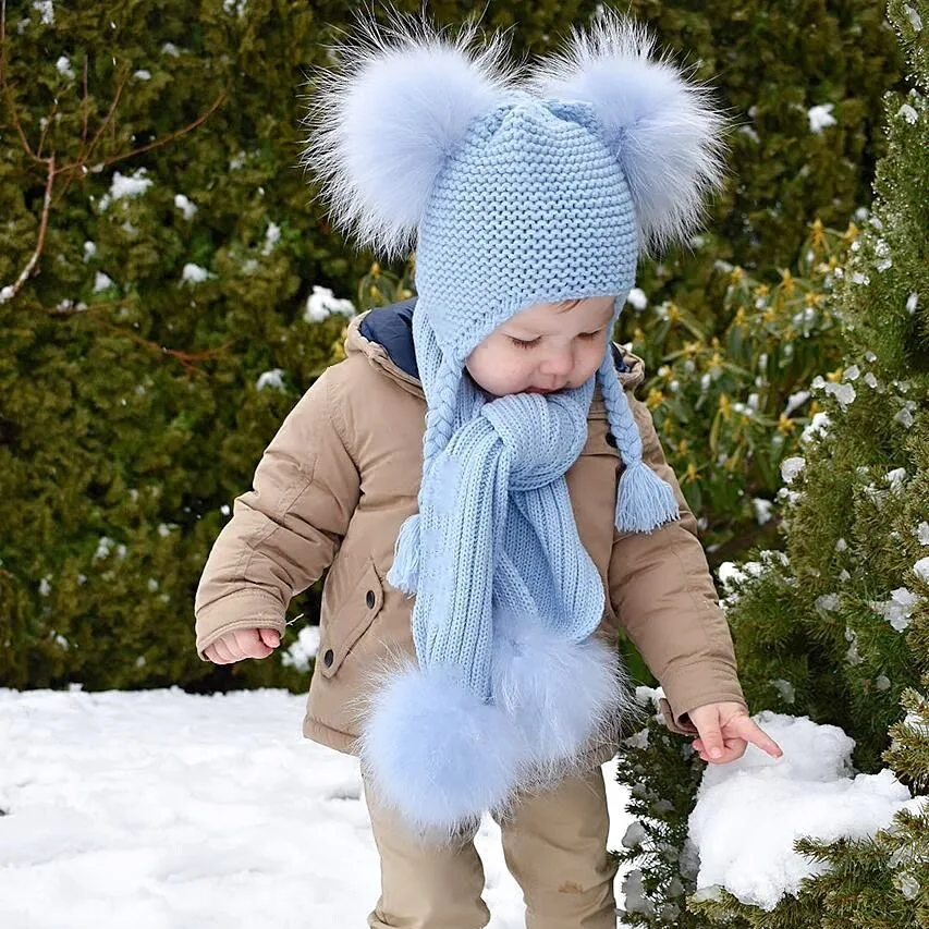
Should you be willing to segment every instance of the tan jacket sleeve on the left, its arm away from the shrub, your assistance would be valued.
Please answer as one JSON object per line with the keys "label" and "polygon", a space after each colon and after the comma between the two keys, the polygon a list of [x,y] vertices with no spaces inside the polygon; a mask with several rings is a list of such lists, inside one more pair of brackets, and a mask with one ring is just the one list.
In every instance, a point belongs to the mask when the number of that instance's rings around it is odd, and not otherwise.
{"label": "tan jacket sleeve on the left, its arm away from the shrub", "polygon": [[330,369],[284,419],[210,551],[194,604],[200,658],[232,629],[283,634],[291,598],[335,557],[359,477],[331,383]]}

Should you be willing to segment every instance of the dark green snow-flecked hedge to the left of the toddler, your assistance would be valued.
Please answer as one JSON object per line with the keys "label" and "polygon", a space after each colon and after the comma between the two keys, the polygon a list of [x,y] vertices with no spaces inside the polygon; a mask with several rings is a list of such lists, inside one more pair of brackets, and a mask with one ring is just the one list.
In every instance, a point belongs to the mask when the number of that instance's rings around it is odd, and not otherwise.
{"label": "dark green snow-flecked hedge to the left of the toddler", "polygon": [[[344,319],[314,318],[314,288],[352,293],[370,264],[298,169],[306,75],[354,5],[3,3],[0,684],[306,686],[280,662],[198,661],[193,596],[339,355]],[[591,9],[534,4],[517,52]]]}

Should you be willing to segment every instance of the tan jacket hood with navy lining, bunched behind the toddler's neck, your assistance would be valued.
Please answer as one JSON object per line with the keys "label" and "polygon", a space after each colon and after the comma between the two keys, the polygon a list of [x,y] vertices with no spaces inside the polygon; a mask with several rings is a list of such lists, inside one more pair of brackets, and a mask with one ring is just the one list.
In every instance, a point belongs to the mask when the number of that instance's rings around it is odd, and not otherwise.
{"label": "tan jacket hood with navy lining, bunched behind the toddler's neck", "polygon": [[[368,360],[412,392],[424,396],[413,344],[413,313],[416,297],[360,313],[349,322],[345,356],[367,356]],[[645,362],[612,343],[616,371],[624,390],[633,390],[645,380]],[[594,408],[602,407],[599,388]]]}

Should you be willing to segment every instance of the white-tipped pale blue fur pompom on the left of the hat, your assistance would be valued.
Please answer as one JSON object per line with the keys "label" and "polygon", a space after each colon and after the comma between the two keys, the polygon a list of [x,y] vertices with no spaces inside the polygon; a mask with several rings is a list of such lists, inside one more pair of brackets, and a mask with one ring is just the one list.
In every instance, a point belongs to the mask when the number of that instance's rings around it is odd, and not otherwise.
{"label": "white-tipped pale blue fur pompom on the left of the hat", "polygon": [[506,36],[481,46],[477,26],[456,36],[425,14],[371,11],[331,49],[332,69],[309,75],[302,164],[319,175],[334,222],[354,228],[362,246],[403,257],[415,244],[432,185],[468,123],[513,86]]}

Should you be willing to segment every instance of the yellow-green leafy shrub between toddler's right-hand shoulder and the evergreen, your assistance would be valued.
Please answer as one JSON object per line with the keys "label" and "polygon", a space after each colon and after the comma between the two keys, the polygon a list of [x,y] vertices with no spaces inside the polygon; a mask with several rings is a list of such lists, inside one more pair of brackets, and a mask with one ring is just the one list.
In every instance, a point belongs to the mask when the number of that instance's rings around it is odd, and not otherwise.
{"label": "yellow-green leafy shrub between toddler's right-hand shoulder and the evergreen", "polygon": [[857,233],[817,220],[771,284],[719,261],[726,286],[711,326],[672,301],[635,314],[633,351],[652,374],[646,404],[687,502],[704,517],[711,563],[777,539],[769,511],[780,465],[818,411],[799,388],[841,360],[827,294]]}

